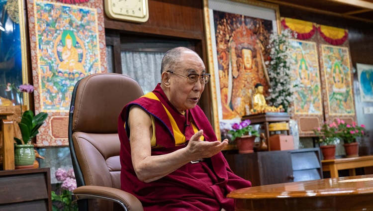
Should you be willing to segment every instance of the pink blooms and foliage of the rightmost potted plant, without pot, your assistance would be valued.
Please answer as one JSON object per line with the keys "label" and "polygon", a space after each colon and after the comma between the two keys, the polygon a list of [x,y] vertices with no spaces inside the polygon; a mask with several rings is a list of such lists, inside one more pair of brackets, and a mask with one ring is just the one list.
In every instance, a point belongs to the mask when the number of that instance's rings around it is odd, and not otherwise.
{"label": "pink blooms and foliage of the rightmost potted plant, without pot", "polygon": [[362,137],[365,134],[365,125],[358,125],[356,122],[351,124],[346,123],[344,120],[337,118],[338,136],[345,142],[350,144],[356,142],[357,137]]}

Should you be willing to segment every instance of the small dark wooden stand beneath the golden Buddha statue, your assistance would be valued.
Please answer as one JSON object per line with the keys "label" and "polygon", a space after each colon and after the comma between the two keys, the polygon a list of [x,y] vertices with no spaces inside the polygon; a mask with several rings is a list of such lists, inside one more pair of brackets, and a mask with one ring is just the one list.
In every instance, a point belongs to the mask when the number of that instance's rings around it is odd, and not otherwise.
{"label": "small dark wooden stand beneath the golden Buddha statue", "polygon": [[[268,145],[268,151],[271,151],[271,145],[270,145],[270,131],[269,131],[269,123],[271,122],[280,122],[290,121],[290,115],[286,112],[269,112],[269,113],[258,113],[253,115],[246,115],[242,116],[242,120],[249,119],[251,121],[251,124],[263,124],[264,129],[266,130],[266,138],[267,138],[267,145]],[[287,134],[289,134],[289,130],[287,130]]]}

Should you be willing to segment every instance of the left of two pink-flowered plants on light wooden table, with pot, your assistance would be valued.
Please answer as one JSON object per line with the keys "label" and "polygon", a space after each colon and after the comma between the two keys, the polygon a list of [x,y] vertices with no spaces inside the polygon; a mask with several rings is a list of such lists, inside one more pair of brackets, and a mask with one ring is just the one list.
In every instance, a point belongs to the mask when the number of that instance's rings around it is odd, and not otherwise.
{"label": "left of two pink-flowered plants on light wooden table, with pot", "polygon": [[335,159],[336,144],[339,143],[338,126],[335,122],[321,125],[313,130],[319,136],[317,142],[320,144],[321,154],[324,160]]}

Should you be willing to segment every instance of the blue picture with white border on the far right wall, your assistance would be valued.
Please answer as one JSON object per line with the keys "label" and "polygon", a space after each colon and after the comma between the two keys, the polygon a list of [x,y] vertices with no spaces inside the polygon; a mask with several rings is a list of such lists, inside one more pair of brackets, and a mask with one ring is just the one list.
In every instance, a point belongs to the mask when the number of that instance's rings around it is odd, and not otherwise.
{"label": "blue picture with white border on the far right wall", "polygon": [[362,102],[373,102],[373,65],[356,64]]}

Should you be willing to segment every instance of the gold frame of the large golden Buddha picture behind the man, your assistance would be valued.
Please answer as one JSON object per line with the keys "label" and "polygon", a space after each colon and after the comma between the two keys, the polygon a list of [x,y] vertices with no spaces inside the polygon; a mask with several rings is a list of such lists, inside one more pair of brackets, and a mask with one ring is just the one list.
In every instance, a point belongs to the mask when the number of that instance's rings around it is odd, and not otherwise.
{"label": "gold frame of the large golden Buddha picture behind the man", "polygon": [[[280,25],[280,9],[279,5],[266,3],[256,0],[226,0],[227,7],[229,7],[229,1],[238,2],[238,3],[245,3],[252,6],[264,7],[273,9],[275,16],[276,16],[276,23],[277,23],[277,32],[280,33],[281,25]],[[217,95],[216,95],[216,82],[215,82],[215,69],[213,63],[213,53],[212,53],[212,41],[211,41],[211,29],[210,29],[210,17],[209,17],[209,6],[208,0],[203,0],[203,14],[204,14],[204,26],[205,26],[205,34],[206,34],[206,49],[207,49],[207,66],[208,72],[211,74],[211,79],[209,82],[210,89],[211,89],[211,100],[212,100],[212,125],[215,131],[215,134],[218,140],[221,141],[221,134],[220,134],[220,119],[218,115],[218,105],[217,105]]]}

